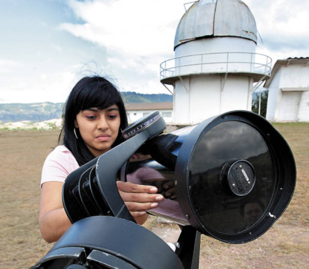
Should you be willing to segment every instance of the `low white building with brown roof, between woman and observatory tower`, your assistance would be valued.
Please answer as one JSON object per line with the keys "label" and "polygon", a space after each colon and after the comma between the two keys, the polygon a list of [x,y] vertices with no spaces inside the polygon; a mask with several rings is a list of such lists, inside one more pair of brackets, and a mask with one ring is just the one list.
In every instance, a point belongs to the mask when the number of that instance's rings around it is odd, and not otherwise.
{"label": "low white building with brown roof, between woman and observatory tower", "polygon": [[155,110],[158,110],[162,114],[166,123],[173,121],[173,102],[125,103],[125,109],[129,124]]}

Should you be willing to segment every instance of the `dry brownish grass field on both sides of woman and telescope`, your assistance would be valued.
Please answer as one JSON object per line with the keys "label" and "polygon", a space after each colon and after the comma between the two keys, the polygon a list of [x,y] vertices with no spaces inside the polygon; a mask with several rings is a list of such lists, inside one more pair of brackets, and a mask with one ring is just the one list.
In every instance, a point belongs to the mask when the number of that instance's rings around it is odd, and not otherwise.
{"label": "dry brownish grass field on both sides of woman and telescope", "polygon": [[[296,160],[297,184],[286,212],[263,236],[229,245],[202,236],[200,268],[308,268],[309,124],[275,124]],[[59,131],[0,131],[0,267],[28,268],[53,246],[40,236],[38,207],[44,159]],[[166,227],[151,217],[146,228]]]}

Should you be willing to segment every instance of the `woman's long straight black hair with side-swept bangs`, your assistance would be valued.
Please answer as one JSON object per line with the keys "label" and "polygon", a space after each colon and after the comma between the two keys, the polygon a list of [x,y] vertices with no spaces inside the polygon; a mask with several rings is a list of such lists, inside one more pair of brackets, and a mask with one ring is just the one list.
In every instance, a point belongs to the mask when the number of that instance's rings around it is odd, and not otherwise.
{"label": "woman's long straight black hair with side-swept bangs", "polygon": [[[91,107],[105,109],[113,104],[118,106],[120,114],[118,136],[112,145],[112,147],[115,147],[123,141],[121,129],[123,130],[128,126],[125,106],[116,86],[99,76],[85,77],[77,82],[66,100],[63,109],[63,127],[58,138],[58,144],[65,145],[80,166],[91,161],[95,156],[87,148],[78,128],[75,128],[76,115]],[[78,139],[75,137],[74,128]]]}

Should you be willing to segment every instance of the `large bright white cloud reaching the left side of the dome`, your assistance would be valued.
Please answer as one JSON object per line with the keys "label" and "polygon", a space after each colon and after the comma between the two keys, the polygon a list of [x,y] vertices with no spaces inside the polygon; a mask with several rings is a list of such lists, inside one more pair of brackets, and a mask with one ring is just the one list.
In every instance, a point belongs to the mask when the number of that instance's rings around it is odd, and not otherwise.
{"label": "large bright white cloud reaching the left side of the dome", "polygon": [[143,56],[172,51],[184,13],[179,1],[71,0],[69,4],[85,23],[62,23],[61,29],[110,50]]}

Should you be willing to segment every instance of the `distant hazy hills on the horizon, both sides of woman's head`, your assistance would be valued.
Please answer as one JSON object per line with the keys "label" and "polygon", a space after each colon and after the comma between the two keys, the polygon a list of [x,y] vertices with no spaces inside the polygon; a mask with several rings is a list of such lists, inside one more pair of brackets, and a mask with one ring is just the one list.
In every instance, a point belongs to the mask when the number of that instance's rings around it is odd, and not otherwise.
{"label": "distant hazy hills on the horizon, both sides of woman's head", "polygon": [[[171,102],[173,96],[168,94],[140,94],[121,92],[125,103]],[[60,119],[64,103],[10,103],[0,104],[0,122],[29,120],[39,122]]]}

